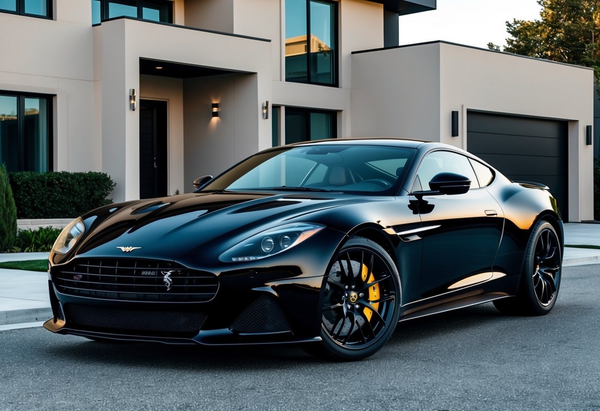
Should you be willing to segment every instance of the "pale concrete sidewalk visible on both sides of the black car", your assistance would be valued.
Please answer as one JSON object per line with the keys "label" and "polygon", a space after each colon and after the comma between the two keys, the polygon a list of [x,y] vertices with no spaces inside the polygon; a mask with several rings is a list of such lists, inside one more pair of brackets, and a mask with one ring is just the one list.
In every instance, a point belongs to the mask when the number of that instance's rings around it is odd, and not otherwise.
{"label": "pale concrete sidewalk visible on both sides of the black car", "polygon": [[[565,244],[600,246],[600,224],[566,223]],[[0,253],[0,261],[46,259],[49,253]],[[600,250],[565,248],[563,267],[600,264]],[[31,327],[52,317],[47,273],[0,269],[0,331]],[[23,324],[27,323],[27,324]]]}

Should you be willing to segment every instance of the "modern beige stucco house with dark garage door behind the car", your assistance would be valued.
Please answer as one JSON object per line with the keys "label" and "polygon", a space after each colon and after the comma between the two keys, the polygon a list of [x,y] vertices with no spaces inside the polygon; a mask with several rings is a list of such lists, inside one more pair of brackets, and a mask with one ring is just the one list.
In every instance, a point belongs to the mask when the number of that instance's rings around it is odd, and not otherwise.
{"label": "modern beige stucco house with dark garage door behind the car", "polygon": [[[438,41],[436,0],[2,0],[0,161],[104,171],[116,201],[192,190],[260,149],[442,141],[593,219],[591,69]],[[401,22],[401,19],[400,19]]]}

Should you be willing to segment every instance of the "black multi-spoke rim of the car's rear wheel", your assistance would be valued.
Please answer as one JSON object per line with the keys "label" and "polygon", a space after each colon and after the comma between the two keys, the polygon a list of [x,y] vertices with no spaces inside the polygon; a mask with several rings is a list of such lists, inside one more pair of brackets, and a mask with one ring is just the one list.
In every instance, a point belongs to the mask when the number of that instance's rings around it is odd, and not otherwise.
{"label": "black multi-spoke rim of the car's rear wheel", "polygon": [[560,277],[560,246],[556,234],[544,229],[533,254],[533,291],[539,303],[547,307],[556,297]]}

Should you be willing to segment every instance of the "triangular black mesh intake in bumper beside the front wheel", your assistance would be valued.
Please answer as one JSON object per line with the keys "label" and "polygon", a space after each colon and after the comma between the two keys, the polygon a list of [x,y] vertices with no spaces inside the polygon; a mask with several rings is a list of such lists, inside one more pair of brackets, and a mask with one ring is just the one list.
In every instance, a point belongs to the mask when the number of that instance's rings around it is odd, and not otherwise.
{"label": "triangular black mesh intake in bumper beside the front wheel", "polygon": [[261,295],[229,328],[234,333],[280,333],[290,331],[286,315],[273,297]]}

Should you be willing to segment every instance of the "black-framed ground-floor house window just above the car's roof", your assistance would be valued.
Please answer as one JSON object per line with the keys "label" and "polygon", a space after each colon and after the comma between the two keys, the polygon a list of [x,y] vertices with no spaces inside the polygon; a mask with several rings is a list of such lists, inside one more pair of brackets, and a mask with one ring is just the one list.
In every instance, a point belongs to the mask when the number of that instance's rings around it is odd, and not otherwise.
{"label": "black-framed ground-floor house window just above the car's roof", "polygon": [[286,107],[286,144],[337,137],[337,111]]}

